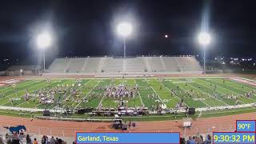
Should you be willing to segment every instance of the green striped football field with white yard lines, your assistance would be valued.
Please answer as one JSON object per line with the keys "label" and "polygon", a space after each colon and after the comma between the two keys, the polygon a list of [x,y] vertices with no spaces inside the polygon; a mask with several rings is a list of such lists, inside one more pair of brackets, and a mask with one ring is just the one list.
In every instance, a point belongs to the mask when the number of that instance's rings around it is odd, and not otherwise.
{"label": "green striped football field with white yard lines", "polygon": [[[78,86],[78,83],[81,86]],[[138,85],[138,94],[134,98],[125,98],[127,106],[146,106],[152,108],[158,104],[166,104],[168,108],[174,108],[181,99],[186,106],[201,108],[215,106],[234,106],[256,102],[256,93],[250,98],[244,95],[250,91],[256,90],[256,87],[234,82],[227,78],[126,78],[124,80],[116,78],[114,82],[108,78],[81,79],[77,82],[75,79],[51,79],[46,82],[44,79],[28,79],[16,83],[15,88],[10,86],[0,87],[0,106],[15,106],[24,108],[54,109],[57,105],[41,104],[37,93],[39,90],[53,90],[58,87],[66,87],[66,97],[63,94],[54,94],[54,99],[60,98],[62,107],[71,109],[79,107],[97,108],[100,103],[102,107],[117,107],[118,102],[114,98],[104,96],[105,91],[98,87],[109,86],[110,83],[126,84],[128,88],[134,88]],[[74,84],[74,86],[72,86]],[[71,89],[77,89],[77,98],[74,102]],[[24,99],[26,90],[34,97],[28,101]],[[154,98],[150,97],[154,94]],[[236,96],[238,98],[228,98]],[[88,102],[83,102],[86,98]],[[13,99],[12,102],[10,99]]]}

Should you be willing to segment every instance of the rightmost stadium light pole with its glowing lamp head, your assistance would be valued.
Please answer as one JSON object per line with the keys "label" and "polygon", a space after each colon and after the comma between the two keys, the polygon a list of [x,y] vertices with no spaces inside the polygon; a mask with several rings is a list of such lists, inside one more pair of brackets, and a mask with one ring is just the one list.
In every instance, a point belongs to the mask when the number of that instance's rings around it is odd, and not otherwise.
{"label": "rightmost stadium light pole with its glowing lamp head", "polygon": [[198,42],[203,48],[203,70],[206,74],[206,48],[210,44],[210,34],[207,32],[201,32],[198,34]]}

